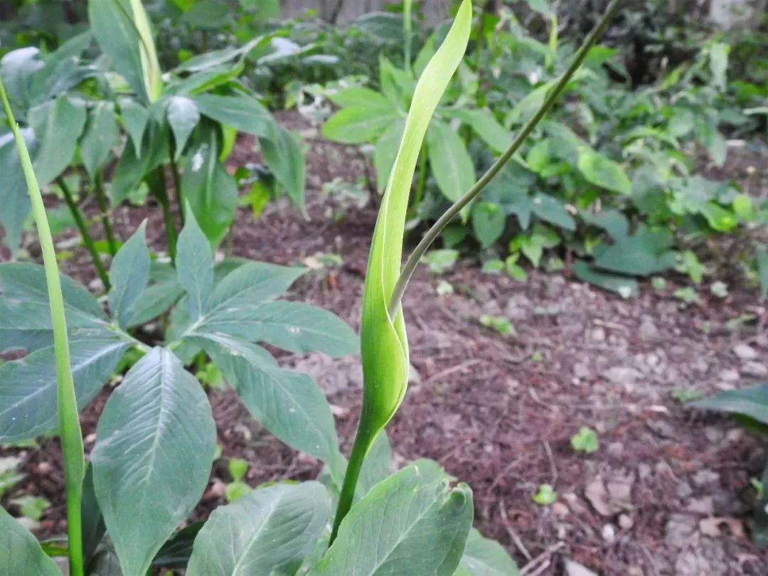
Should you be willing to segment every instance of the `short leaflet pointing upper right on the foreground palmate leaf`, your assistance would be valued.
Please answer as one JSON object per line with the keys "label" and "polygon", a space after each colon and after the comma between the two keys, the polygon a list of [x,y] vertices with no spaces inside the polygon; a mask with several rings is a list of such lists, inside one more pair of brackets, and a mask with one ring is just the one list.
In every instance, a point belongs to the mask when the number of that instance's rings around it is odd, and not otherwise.
{"label": "short leaflet pointing upper right on the foreground palmate leaf", "polygon": [[210,306],[233,306],[274,300],[306,272],[299,266],[278,266],[266,262],[247,262],[217,283]]}

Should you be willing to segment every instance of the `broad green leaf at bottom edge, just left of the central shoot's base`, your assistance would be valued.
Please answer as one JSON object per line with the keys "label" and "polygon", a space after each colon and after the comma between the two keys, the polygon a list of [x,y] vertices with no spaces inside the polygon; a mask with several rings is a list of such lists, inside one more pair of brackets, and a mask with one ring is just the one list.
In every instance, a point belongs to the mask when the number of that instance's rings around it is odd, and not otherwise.
{"label": "broad green leaf at bottom edge, just left of the central shoot's base", "polygon": [[326,526],[323,485],[261,488],[214,510],[194,542],[187,576],[294,574]]}

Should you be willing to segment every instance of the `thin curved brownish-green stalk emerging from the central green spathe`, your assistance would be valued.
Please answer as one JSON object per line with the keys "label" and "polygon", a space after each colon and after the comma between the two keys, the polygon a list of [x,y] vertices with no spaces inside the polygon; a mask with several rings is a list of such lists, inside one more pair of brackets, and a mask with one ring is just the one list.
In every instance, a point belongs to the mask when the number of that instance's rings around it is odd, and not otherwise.
{"label": "thin curved brownish-green stalk emerging from the central green spathe", "polygon": [[561,92],[568,84],[568,81],[571,80],[571,77],[578,70],[579,66],[581,66],[584,58],[587,57],[589,49],[603,34],[605,28],[607,28],[608,22],[610,22],[611,18],[613,18],[616,14],[619,5],[621,5],[621,0],[612,0],[611,4],[608,5],[603,17],[600,19],[600,22],[598,22],[598,24],[592,28],[592,31],[589,33],[587,38],[584,39],[584,43],[581,45],[581,48],[578,49],[578,52],[574,56],[574,59],[571,61],[571,64],[568,66],[568,69],[564,71],[564,73],[558,79],[557,83],[554,84],[551,91],[549,91],[547,94],[545,101],[541,104],[541,107],[539,107],[531,119],[526,122],[525,126],[521,128],[521,130],[515,136],[515,140],[512,141],[504,154],[502,154],[498,160],[495,161],[492,167],[488,168],[488,171],[482,175],[480,180],[478,180],[472,188],[467,190],[462,197],[456,200],[448,210],[445,210],[445,213],[443,213],[442,216],[439,217],[438,220],[432,224],[432,227],[424,234],[424,237],[422,238],[421,242],[419,242],[419,245],[415,247],[415,250],[413,250],[411,255],[408,257],[408,260],[406,261],[405,266],[403,266],[402,272],[397,279],[395,289],[392,291],[392,297],[389,300],[390,316],[394,317],[397,313],[397,310],[399,309],[400,303],[402,301],[402,294],[406,291],[406,286],[408,286],[408,282],[411,279],[416,266],[419,265],[419,261],[421,261],[427,249],[429,249],[429,247],[432,245],[432,242],[434,242],[442,230],[448,226],[451,220],[453,220],[458,215],[458,213],[462,211],[463,207],[472,202],[472,200],[475,200],[475,197],[477,197],[478,194],[480,194],[482,190],[488,186],[488,183],[493,180],[496,174],[502,170],[509,159],[515,154],[515,152],[518,151],[518,149],[525,141],[525,138],[528,137],[528,134],[531,134],[539,121],[541,121],[541,118],[544,118],[545,114],[552,107],[552,104],[554,104],[554,101],[558,99],[558,96],[560,96]]}

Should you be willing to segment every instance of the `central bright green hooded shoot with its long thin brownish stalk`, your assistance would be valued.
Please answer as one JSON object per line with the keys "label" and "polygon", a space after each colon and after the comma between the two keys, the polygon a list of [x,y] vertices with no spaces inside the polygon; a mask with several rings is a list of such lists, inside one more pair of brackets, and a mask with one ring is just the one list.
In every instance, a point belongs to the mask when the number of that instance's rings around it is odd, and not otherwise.
{"label": "central bright green hooded shoot with its long thin brownish stalk", "polygon": [[384,429],[406,394],[409,352],[406,323],[400,306],[402,294],[419,262],[442,230],[482,192],[544,118],[602,34],[621,0],[611,0],[598,25],[589,33],[566,71],[552,86],[544,102],[521,128],[498,161],[435,222],[402,267],[402,238],[408,198],[429,121],[464,56],[472,27],[472,2],[463,0],[445,40],[424,69],[413,94],[395,164],[389,174],[379,217],[373,232],[362,295],[360,339],[362,355],[362,409],[339,495],[330,543],[352,506],[362,462],[376,435]]}

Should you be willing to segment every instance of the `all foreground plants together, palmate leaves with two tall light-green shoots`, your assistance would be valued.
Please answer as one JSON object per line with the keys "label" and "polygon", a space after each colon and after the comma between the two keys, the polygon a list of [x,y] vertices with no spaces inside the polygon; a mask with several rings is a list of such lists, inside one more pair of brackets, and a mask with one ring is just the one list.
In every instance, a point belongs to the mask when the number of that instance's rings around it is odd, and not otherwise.
{"label": "all foreground plants together, palmate leaves with two tall light-green shoots", "polygon": [[[17,263],[0,266],[0,302],[8,312],[4,317],[16,319],[3,327],[4,347],[32,350],[0,366],[4,372],[0,391],[8,395],[0,439],[28,440],[58,429],[68,516],[65,545],[48,542],[43,547],[5,511],[0,512],[4,528],[0,538],[14,552],[0,558],[5,563],[0,571],[57,574],[49,559],[53,554],[68,558],[73,576],[118,570],[141,576],[153,566],[179,565],[186,566],[187,574],[514,574],[515,565],[502,548],[471,531],[468,486],[455,485],[433,462],[415,462],[388,475],[386,465],[373,458],[389,452],[384,429],[402,403],[408,382],[401,300],[429,245],[518,151],[618,5],[611,3],[540,108],[498,161],[426,233],[400,270],[409,189],[419,151],[442,91],[468,43],[472,5],[469,0],[462,2],[415,86],[373,233],[362,303],[363,405],[349,463],[339,452],[323,395],[300,375],[278,368],[270,354],[255,345],[319,349],[330,355],[356,349],[353,334],[335,316],[300,303],[273,301],[301,271],[231,260],[224,260],[217,269],[211,239],[198,225],[190,204],[185,204],[175,270],[166,270],[165,285],[158,289],[149,284],[151,254],[140,227],[115,254],[107,297],[110,314],[106,315],[87,290],[58,273],[35,167],[0,81],[0,98],[28,184],[44,257],[42,268]],[[157,301],[163,299],[158,296],[168,293],[174,295],[169,299],[173,301],[159,305]],[[41,306],[45,302],[50,318]],[[167,315],[167,344],[150,347],[131,335],[133,323],[161,315],[168,306],[173,310]],[[21,309],[25,309],[25,320],[31,310],[37,310],[35,323],[18,321]],[[79,342],[87,344],[78,349]],[[133,362],[108,399],[87,472],[78,406],[103,386],[129,348],[143,356]],[[198,348],[211,356],[267,429],[325,462],[328,487],[319,482],[263,487],[214,511],[204,525],[176,532],[200,497],[214,458],[210,407],[200,382],[183,363]],[[19,381],[36,386],[18,386]],[[326,531],[336,489],[333,524]]]}

